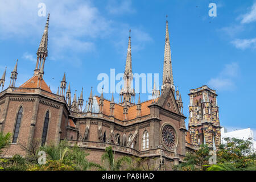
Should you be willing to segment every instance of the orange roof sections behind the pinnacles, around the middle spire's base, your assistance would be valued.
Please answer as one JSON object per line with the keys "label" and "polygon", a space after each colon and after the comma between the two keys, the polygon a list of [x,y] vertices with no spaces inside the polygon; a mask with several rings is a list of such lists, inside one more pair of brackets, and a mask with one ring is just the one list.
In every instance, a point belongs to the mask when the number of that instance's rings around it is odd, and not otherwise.
{"label": "orange roof sections behind the pinnacles, around the middle spire's base", "polygon": [[[100,97],[96,96],[96,99],[98,101],[98,104],[100,104]],[[146,102],[141,103],[141,116],[148,115],[150,114],[150,108],[148,106],[152,103],[152,100],[148,100]],[[110,101],[104,100],[104,105],[103,105],[103,114],[105,115],[110,115]],[[129,107],[128,109],[128,114],[127,114],[127,119],[135,119],[137,117],[137,106],[133,105]],[[123,121],[123,106],[115,104],[115,109],[114,109],[114,118],[117,118],[121,121]]]}

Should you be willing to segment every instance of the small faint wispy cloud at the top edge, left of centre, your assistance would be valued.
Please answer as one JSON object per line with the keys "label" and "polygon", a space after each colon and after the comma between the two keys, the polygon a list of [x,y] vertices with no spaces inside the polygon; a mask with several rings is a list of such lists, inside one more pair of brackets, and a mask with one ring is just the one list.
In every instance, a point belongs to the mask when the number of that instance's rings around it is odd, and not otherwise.
{"label": "small faint wispy cloud at the top edge, left of centre", "polygon": [[108,6],[106,6],[106,10],[110,14],[130,14],[135,13],[135,9],[131,6],[131,0],[125,0],[122,2],[117,2],[116,0],[109,1]]}

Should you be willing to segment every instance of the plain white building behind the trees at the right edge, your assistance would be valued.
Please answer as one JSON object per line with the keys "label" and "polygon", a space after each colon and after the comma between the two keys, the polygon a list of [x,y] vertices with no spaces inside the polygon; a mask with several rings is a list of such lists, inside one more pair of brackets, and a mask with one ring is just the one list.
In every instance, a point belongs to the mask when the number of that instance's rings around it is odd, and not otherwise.
{"label": "plain white building behind the trees at the right edge", "polygon": [[253,145],[251,146],[251,151],[256,152],[256,141],[254,141],[253,137],[253,130],[248,127],[247,129],[242,129],[242,130],[235,130],[235,131],[230,131],[228,132],[224,127],[221,128],[221,143],[226,143],[224,138],[238,138],[238,139],[243,139],[247,140],[251,138],[251,142]]}

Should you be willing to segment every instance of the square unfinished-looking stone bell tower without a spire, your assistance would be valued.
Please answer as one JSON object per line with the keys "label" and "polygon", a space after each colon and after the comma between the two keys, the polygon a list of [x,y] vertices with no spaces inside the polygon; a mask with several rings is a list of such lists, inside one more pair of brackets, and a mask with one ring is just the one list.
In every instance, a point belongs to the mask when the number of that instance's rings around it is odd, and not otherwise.
{"label": "square unfinished-looking stone bell tower without a spire", "polygon": [[196,146],[208,144],[212,148],[218,146],[221,142],[221,126],[216,91],[204,85],[191,89],[188,95],[190,99],[188,131],[191,143]]}

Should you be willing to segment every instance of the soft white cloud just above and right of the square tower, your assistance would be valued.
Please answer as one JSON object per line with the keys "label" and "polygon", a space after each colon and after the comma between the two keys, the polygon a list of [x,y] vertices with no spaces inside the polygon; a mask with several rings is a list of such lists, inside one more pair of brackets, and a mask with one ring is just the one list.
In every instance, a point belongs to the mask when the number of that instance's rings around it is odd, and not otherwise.
{"label": "soft white cloud just above and right of the square tower", "polygon": [[237,63],[226,64],[217,77],[211,78],[208,85],[217,90],[232,90],[236,88],[234,79],[239,75]]}

